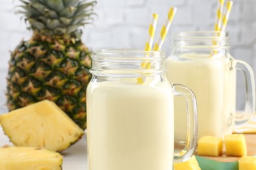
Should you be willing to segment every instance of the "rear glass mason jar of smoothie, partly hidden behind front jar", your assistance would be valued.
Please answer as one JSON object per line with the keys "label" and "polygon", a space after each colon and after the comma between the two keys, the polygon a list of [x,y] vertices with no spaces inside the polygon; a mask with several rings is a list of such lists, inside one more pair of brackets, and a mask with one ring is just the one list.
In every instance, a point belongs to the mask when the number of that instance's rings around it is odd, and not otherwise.
{"label": "rear glass mason jar of smoothie, partly hidden behind front jar", "polygon": [[[223,137],[234,124],[247,122],[255,109],[255,82],[251,67],[234,59],[225,32],[178,32],[172,36],[172,52],[166,60],[170,82],[184,84],[196,95],[198,138]],[[236,114],[236,71],[245,76],[244,114]],[[175,139],[184,141],[184,100],[175,99]]]}

